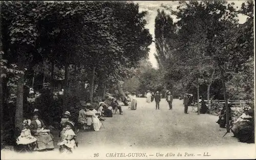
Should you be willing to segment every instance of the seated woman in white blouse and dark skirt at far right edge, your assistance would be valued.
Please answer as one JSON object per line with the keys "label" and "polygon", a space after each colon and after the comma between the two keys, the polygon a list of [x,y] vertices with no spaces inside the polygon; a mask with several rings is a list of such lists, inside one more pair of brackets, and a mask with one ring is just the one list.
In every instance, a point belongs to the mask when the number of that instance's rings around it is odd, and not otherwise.
{"label": "seated woman in white blouse and dark skirt at far right edge", "polygon": [[246,126],[250,125],[250,120],[252,117],[249,115],[249,108],[244,108],[244,113],[240,116],[239,119],[237,119],[236,122],[234,122],[234,125],[231,128],[231,131],[233,132],[233,136],[237,137],[239,131],[243,129]]}

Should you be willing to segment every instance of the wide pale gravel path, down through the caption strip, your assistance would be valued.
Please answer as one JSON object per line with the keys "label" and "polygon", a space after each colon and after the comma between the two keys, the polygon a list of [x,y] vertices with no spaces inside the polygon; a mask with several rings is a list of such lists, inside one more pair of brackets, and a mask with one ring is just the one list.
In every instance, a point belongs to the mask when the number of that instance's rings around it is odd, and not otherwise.
{"label": "wide pale gravel path, down through the caption strip", "polygon": [[[129,110],[122,106],[123,115],[113,115],[106,118],[100,131],[83,131],[78,133],[79,146],[67,159],[120,159],[106,156],[106,153],[145,152],[153,159],[201,159],[201,158],[251,158],[255,157],[255,145],[240,143],[232,138],[232,133],[222,137],[226,129],[220,128],[217,116],[191,112],[184,114],[183,101],[175,99],[173,110],[168,110],[165,99],[161,99],[160,109],[155,109],[155,102],[146,103],[144,98],[138,98],[137,110]],[[181,157],[157,157],[157,152],[172,152]],[[201,154],[209,152],[211,156],[184,157],[185,152]],[[48,151],[56,154],[55,151]],[[47,153],[48,153],[47,152]],[[78,153],[78,154],[75,154]],[[97,156],[97,153],[99,156]],[[33,154],[33,153],[31,153]],[[39,153],[37,152],[38,156]],[[164,154],[165,155],[165,154]],[[26,156],[27,157],[27,156]],[[35,157],[35,156],[33,156]],[[19,158],[21,158],[19,156]],[[53,156],[49,156],[53,159]],[[143,159],[143,157],[130,157]],[[144,159],[147,157],[144,157]],[[150,158],[150,157],[148,157]],[[55,158],[54,158],[55,159]],[[122,158],[122,159],[127,159]]]}

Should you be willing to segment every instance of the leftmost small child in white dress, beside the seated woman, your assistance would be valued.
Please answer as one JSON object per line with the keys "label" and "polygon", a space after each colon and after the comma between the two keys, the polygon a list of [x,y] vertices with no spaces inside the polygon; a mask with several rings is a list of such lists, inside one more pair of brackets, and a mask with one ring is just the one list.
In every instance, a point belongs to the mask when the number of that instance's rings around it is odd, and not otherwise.
{"label": "leftmost small child in white dress, beside the seated woman", "polygon": [[20,133],[20,135],[17,138],[16,143],[22,144],[22,145],[28,145],[31,144],[33,142],[36,142],[36,138],[34,138],[34,136],[31,135],[29,125],[30,125],[31,121],[30,120],[24,120],[23,121],[23,130]]}

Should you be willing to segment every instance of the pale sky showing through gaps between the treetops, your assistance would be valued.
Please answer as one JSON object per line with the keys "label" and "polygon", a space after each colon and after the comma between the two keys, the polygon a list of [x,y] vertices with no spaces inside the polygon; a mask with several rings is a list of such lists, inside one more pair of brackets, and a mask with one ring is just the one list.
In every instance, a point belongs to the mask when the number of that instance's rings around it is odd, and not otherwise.
{"label": "pale sky showing through gaps between the treetops", "polygon": [[[145,26],[147,29],[150,30],[150,33],[152,34],[153,40],[155,40],[155,17],[157,16],[157,9],[163,9],[161,8],[161,4],[172,6],[172,8],[176,8],[178,6],[178,1],[172,2],[172,1],[133,1],[134,3],[139,4],[139,11],[147,11],[146,20],[147,25]],[[240,7],[242,3],[246,1],[228,1],[229,3],[234,3],[234,7]],[[166,13],[170,14],[170,12],[166,11]],[[170,16],[173,18],[173,21],[176,22],[177,19],[174,15]],[[246,16],[239,15],[239,21],[241,24],[243,24],[246,21]],[[154,57],[154,53],[156,53],[156,47],[155,43],[152,43],[150,45],[150,53],[148,55],[150,62],[152,63],[153,67],[157,68],[157,60]]]}

